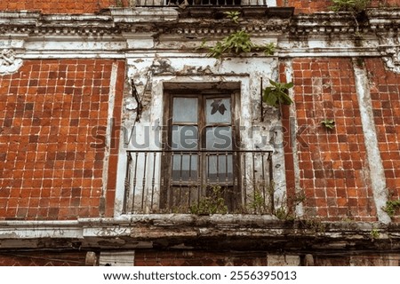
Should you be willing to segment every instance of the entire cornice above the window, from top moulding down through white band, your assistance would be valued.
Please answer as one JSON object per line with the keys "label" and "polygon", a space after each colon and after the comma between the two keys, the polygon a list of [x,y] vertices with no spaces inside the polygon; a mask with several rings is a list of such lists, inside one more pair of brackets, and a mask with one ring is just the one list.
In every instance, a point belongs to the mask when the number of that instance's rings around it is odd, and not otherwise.
{"label": "entire cornice above the window, from top moulding down through white band", "polygon": [[[262,15],[249,14],[254,9],[259,9]],[[99,15],[0,12],[0,40],[18,41],[10,46],[0,43],[0,48],[14,48],[19,53],[20,49],[26,49],[29,58],[40,56],[42,51],[72,54],[78,49],[84,54],[92,46],[92,51],[100,55],[177,49],[193,53],[204,39],[219,40],[242,28],[261,43],[277,42],[278,56],[383,56],[390,68],[397,68],[398,52],[387,47],[397,47],[400,43],[387,43],[387,39],[398,37],[400,9],[371,9],[358,20],[348,12],[292,15],[287,9],[266,7],[249,11],[239,25],[214,16],[184,17],[172,7],[113,8]],[[147,41],[145,45],[139,44],[143,38]],[[189,44],[176,44],[188,41]]]}

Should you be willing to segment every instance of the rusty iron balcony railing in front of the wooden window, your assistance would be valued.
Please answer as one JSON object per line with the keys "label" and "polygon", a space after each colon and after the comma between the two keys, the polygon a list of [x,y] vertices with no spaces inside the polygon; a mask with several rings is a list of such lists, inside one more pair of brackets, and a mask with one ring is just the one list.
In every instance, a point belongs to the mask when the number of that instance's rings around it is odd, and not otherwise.
{"label": "rusty iron balcony railing in front of the wooden window", "polygon": [[273,210],[271,151],[127,151],[124,213]]}

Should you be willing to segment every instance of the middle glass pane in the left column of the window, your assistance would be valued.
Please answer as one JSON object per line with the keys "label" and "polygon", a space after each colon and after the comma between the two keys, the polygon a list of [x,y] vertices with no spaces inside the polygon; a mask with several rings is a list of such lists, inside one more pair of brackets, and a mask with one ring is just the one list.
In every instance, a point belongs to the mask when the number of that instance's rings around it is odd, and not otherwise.
{"label": "middle glass pane in the left column of the window", "polygon": [[196,150],[198,130],[194,125],[172,126],[172,150]]}

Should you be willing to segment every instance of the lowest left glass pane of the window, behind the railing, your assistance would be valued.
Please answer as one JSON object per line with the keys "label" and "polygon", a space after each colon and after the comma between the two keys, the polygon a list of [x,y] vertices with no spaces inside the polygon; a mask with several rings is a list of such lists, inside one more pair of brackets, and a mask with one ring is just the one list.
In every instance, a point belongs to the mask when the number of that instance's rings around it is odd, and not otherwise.
{"label": "lowest left glass pane of the window, behind the railing", "polygon": [[173,154],[172,180],[197,181],[197,154]]}

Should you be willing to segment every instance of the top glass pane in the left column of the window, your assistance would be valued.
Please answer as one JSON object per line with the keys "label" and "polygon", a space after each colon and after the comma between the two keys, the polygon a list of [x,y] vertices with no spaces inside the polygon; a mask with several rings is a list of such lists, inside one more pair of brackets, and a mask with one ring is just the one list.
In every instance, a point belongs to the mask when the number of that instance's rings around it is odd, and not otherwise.
{"label": "top glass pane in the left column of the window", "polygon": [[172,122],[197,122],[196,98],[173,98]]}

